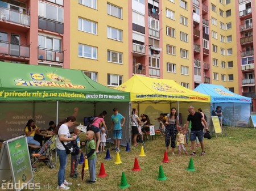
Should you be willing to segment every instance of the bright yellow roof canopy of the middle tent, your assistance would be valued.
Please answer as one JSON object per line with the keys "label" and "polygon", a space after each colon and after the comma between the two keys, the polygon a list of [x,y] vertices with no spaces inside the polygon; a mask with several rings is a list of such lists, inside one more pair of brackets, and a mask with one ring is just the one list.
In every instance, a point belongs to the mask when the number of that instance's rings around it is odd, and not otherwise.
{"label": "bright yellow roof canopy of the middle tent", "polygon": [[131,101],[200,101],[210,102],[210,96],[189,90],[174,80],[134,75],[116,88],[131,93]]}

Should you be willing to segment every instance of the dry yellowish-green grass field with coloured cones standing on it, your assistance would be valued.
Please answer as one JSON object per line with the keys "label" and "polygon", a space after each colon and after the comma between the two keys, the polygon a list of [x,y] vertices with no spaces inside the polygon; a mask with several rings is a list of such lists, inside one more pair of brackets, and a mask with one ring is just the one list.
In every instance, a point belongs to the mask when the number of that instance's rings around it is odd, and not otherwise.
{"label": "dry yellowish-green grass field with coloured cones standing on it", "polygon": [[[70,156],[66,168],[66,177],[73,185],[71,190],[121,190],[122,172],[130,185],[126,190],[256,190],[256,129],[253,128],[225,128],[227,137],[217,135],[212,139],[204,139],[205,156],[200,156],[201,148],[197,147],[197,156],[193,156],[195,172],[186,170],[191,156],[175,156],[168,154],[170,163],[162,163],[164,157],[164,138],[156,137],[154,141],[146,141],[146,156],[138,156],[139,147],[131,146],[131,152],[126,152],[126,147],[119,153],[122,164],[114,164],[116,154],[110,151],[111,160],[104,160],[105,153],[97,154],[96,176],[100,172],[101,163],[104,163],[107,177],[97,176],[96,184],[86,184],[89,178],[88,170],[85,171],[84,181],[81,181],[81,168],[79,164],[79,178],[69,178]],[[83,140],[84,135],[80,135]],[[189,145],[186,146],[191,153]],[[175,150],[177,153],[177,150]],[[134,159],[138,158],[141,171],[131,171]],[[50,169],[44,163],[36,163],[37,171],[34,173],[35,182],[40,185],[50,185],[52,190],[57,186],[57,172],[59,160],[55,169]],[[159,165],[162,165],[166,181],[158,181]],[[77,184],[80,184],[78,186]],[[46,186],[47,188],[47,186]],[[41,189],[45,190],[45,189]]]}

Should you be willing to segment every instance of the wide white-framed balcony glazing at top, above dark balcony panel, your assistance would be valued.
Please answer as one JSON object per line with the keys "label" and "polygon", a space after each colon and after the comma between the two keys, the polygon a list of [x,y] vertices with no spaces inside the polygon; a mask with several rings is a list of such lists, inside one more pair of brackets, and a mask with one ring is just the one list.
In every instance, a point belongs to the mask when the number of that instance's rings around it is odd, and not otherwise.
{"label": "wide white-framed balcony glazing at top, above dark balcony panel", "polygon": [[43,18],[56,20],[63,23],[63,8],[59,6],[49,5],[48,3],[39,2],[38,15]]}

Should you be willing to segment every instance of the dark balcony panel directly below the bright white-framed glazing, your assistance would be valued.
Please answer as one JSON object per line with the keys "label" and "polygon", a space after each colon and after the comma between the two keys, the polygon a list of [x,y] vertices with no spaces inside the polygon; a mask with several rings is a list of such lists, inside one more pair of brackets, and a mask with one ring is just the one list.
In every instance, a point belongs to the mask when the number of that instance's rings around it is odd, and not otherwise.
{"label": "dark balcony panel directly below the bright white-framed glazing", "polygon": [[57,32],[57,33],[64,33],[64,24],[60,22],[56,22],[54,20],[46,19],[39,17],[38,18],[38,28],[47,30],[47,31],[52,31],[52,32]]}

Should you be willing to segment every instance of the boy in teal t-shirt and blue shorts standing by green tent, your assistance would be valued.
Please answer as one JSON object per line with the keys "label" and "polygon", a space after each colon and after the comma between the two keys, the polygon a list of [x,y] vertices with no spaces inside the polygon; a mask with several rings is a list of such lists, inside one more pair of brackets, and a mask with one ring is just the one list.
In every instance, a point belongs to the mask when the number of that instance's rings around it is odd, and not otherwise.
{"label": "boy in teal t-shirt and blue shorts standing by green tent", "polygon": [[[125,117],[123,117],[120,113],[118,113],[118,109],[113,109],[114,114],[111,116],[111,129],[113,132],[113,139],[115,147],[115,153],[120,152],[120,140],[122,138],[122,126],[125,125]],[[123,121],[121,124],[121,120]]]}

